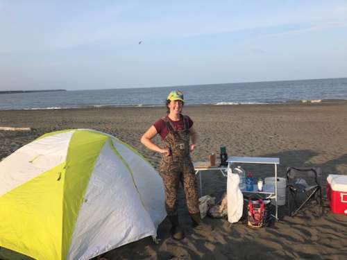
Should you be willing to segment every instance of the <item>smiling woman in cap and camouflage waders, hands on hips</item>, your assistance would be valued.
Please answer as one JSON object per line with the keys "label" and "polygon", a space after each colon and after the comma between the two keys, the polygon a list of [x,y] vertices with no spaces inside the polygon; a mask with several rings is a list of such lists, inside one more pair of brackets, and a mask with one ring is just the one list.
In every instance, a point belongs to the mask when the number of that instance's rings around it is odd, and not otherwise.
{"label": "smiling woman in cap and camouflage waders, hands on hips", "polygon": [[[144,133],[142,144],[155,152],[162,154],[159,173],[165,187],[165,208],[171,222],[171,236],[180,240],[185,237],[178,223],[177,191],[181,182],[185,191],[189,215],[192,218],[194,229],[211,231],[212,227],[201,221],[198,209],[198,190],[194,166],[189,153],[196,146],[198,135],[193,127],[193,121],[182,113],[184,104],[183,93],[172,91],[167,96],[167,116],[156,121]],[[153,143],[155,135],[162,137],[164,148]]]}

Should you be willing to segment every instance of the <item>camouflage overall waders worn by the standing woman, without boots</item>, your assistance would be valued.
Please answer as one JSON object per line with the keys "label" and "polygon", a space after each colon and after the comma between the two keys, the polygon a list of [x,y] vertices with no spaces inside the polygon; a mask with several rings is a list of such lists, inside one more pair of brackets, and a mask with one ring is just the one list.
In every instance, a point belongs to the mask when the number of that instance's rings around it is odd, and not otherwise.
{"label": "camouflage overall waders worn by the standing woman, without boots", "polygon": [[168,216],[177,215],[177,191],[181,182],[185,191],[189,214],[196,214],[198,209],[198,189],[192,159],[189,155],[189,129],[187,117],[183,116],[184,130],[176,131],[167,117],[169,133],[163,140],[163,144],[169,148],[170,155],[162,155],[160,162],[160,176],[165,187],[165,208]]}

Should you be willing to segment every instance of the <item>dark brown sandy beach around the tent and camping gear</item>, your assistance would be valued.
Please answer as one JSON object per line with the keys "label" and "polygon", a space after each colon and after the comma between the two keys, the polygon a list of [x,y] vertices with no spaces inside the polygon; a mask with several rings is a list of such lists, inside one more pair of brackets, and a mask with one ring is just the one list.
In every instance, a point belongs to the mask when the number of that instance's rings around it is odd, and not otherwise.
{"label": "dark brown sandy beach around the tent and camping gear", "polygon": [[[315,166],[328,174],[347,175],[347,103],[297,103],[284,105],[187,106],[184,114],[194,121],[199,134],[192,154],[194,162],[226,146],[228,155],[279,157],[278,175],[289,166]],[[164,107],[122,107],[76,110],[0,111],[0,126],[31,128],[30,131],[0,131],[0,159],[46,132],[68,128],[92,128],[108,132],[139,150],[158,167],[160,155],[147,150],[140,137],[160,116]],[[160,143],[160,139],[156,139]],[[246,168],[247,167],[247,168]],[[255,178],[273,175],[271,166],[245,166]],[[203,175],[203,193],[220,198],[226,177],[213,172]],[[324,192],[325,194],[325,192]],[[180,222],[186,238],[174,241],[169,222],[158,229],[158,245],[150,238],[108,252],[108,259],[346,259],[347,216],[323,208],[316,218],[307,210],[287,216],[280,207],[280,221],[273,227],[252,229],[242,223],[230,227],[223,219],[205,218],[214,226],[210,234],[194,232],[182,189]]]}

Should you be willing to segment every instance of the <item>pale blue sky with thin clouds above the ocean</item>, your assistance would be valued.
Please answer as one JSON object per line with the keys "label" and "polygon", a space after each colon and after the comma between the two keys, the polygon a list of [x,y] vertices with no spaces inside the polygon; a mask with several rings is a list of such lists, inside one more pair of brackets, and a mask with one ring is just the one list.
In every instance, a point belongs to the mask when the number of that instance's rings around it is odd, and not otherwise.
{"label": "pale blue sky with thin clouds above the ocean", "polygon": [[0,90],[344,77],[346,0],[0,0]]}

